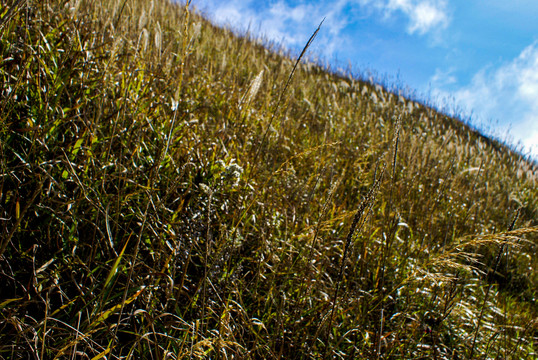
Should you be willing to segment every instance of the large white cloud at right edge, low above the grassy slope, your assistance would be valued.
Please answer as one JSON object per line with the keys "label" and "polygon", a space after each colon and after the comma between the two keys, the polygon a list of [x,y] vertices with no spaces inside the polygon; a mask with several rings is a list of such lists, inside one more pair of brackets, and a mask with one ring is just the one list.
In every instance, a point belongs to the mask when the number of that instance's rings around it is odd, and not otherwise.
{"label": "large white cloud at right edge, low above the grassy slope", "polygon": [[[442,83],[436,85],[437,96],[449,95]],[[512,140],[521,141],[524,151],[538,159],[538,41],[509,63],[485,66],[452,95],[465,113],[474,113],[475,125],[499,121],[505,134],[494,135],[502,137],[510,130]]]}

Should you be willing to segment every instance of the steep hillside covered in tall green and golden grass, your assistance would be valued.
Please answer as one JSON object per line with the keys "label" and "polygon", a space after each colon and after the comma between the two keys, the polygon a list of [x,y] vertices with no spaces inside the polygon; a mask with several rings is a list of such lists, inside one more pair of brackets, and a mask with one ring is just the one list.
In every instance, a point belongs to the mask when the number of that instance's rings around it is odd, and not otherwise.
{"label": "steep hillside covered in tall green and golden grass", "polygon": [[0,3],[1,358],[536,358],[517,153],[164,0]]}

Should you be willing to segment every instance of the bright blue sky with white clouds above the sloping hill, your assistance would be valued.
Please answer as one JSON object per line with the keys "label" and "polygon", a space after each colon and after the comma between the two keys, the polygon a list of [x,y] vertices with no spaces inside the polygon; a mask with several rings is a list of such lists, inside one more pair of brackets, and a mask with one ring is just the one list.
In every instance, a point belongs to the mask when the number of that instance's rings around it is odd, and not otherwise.
{"label": "bright blue sky with white clouds above the sloping hill", "polygon": [[448,113],[538,159],[536,0],[192,0],[214,23]]}

